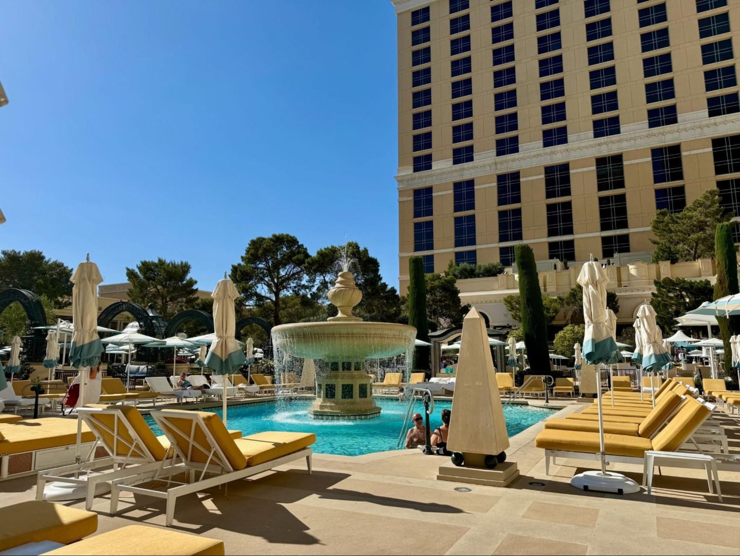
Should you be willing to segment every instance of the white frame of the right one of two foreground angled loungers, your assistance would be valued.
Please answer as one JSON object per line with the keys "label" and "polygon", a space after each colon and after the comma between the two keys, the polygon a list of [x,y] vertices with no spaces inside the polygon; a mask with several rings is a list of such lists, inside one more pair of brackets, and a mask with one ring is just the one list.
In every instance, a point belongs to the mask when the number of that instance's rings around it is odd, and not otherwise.
{"label": "white frame of the right one of two foreground angled loungers", "polygon": [[[144,488],[144,486],[138,486],[141,483],[151,480],[151,472],[144,475],[138,475],[133,478],[114,480],[111,483],[110,491],[110,513],[115,514],[118,511],[118,496],[121,491],[132,492],[134,494],[141,494],[147,496],[153,496],[155,498],[164,498],[167,500],[166,506],[166,517],[165,525],[172,525],[172,520],[175,518],[175,503],[181,496],[189,495],[194,492],[202,492],[205,489],[209,489],[212,486],[218,486],[225,483],[230,483],[232,480],[243,479],[251,477],[252,475],[258,475],[260,473],[269,471],[273,467],[285,465],[301,458],[306,458],[306,466],[308,467],[309,474],[311,473],[311,448],[303,448],[292,454],[283,455],[280,458],[266,461],[255,466],[246,466],[244,469],[235,470],[232,468],[229,460],[221,450],[221,446],[218,445],[215,438],[211,435],[206,423],[203,422],[203,418],[198,413],[172,413],[166,411],[152,411],[150,413],[157,425],[162,429],[164,434],[169,438],[172,446],[177,452],[179,458],[184,462],[184,466],[189,471],[189,483],[178,483],[174,480],[166,481],[166,488],[157,490],[153,488]],[[166,421],[168,416],[173,416],[178,419],[187,419],[190,421],[189,435],[185,435],[180,429],[169,426]],[[195,432],[200,430],[206,438],[206,446],[201,446],[195,442]],[[178,444],[178,440],[185,440],[189,451],[183,452]],[[192,456],[195,453],[200,453],[206,456],[206,463],[199,463],[192,460]],[[195,472],[201,472],[198,480],[195,479]],[[206,478],[206,473],[212,473],[214,476]],[[160,481],[161,482],[161,481]],[[174,486],[171,486],[174,485]]]}

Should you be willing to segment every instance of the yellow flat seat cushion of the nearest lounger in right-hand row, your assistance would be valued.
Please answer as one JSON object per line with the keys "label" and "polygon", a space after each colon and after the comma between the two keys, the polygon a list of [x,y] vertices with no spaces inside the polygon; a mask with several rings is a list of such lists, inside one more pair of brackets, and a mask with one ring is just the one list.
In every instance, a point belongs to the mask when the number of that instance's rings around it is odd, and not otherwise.
{"label": "yellow flat seat cushion of the nearest lounger in right-hand row", "polygon": [[[534,443],[538,448],[549,450],[599,453],[598,432],[545,429],[537,435]],[[607,454],[625,455],[629,458],[642,458],[646,450],[653,449],[649,439],[627,435],[604,435],[604,446]]]}

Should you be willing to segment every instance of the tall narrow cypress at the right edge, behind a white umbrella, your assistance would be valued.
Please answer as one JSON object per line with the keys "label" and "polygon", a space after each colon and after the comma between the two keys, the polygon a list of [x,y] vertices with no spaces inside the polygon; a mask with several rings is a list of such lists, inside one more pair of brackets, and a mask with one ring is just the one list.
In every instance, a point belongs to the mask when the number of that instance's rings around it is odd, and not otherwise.
{"label": "tall narrow cypress at the right edge, behind a white umbrella", "polygon": [[[714,298],[723,298],[725,295],[739,293],[737,259],[735,255],[735,243],[733,241],[733,224],[721,222],[717,224],[714,232],[714,253],[717,266],[717,281],[714,284]],[[739,331],[737,317],[717,317],[719,324],[719,337],[724,342],[724,353],[732,352],[730,336]],[[724,357],[724,372],[733,375],[732,358]]]}

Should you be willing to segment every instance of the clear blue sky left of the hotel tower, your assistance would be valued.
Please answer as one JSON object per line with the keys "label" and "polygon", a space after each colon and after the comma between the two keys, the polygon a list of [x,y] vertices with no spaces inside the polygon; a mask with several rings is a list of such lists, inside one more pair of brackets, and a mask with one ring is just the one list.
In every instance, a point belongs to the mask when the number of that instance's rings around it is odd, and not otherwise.
{"label": "clear blue sky left of the hotel tower", "polygon": [[0,249],[105,282],[186,260],[212,289],[258,235],[345,234],[397,287],[388,0],[0,1]]}

